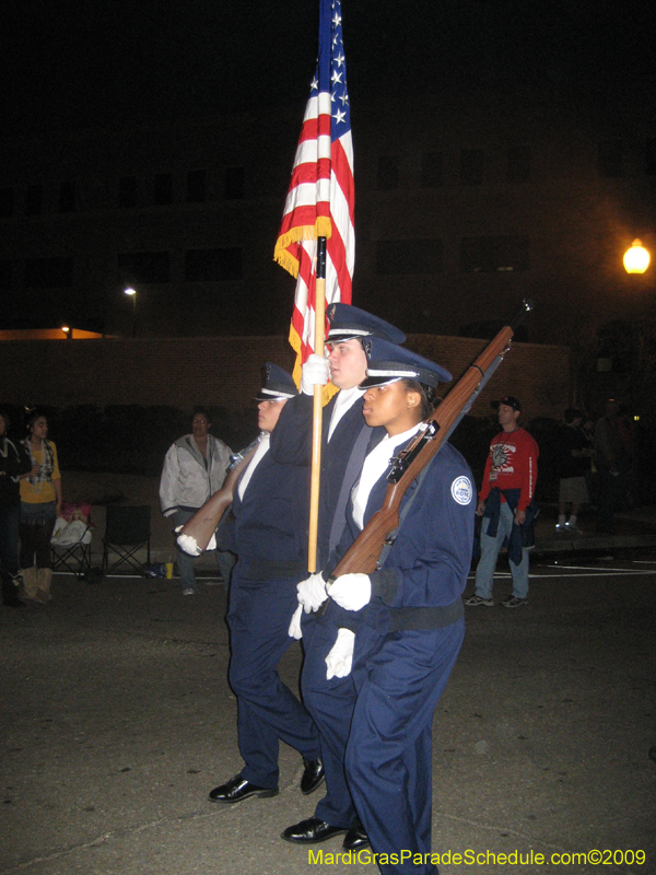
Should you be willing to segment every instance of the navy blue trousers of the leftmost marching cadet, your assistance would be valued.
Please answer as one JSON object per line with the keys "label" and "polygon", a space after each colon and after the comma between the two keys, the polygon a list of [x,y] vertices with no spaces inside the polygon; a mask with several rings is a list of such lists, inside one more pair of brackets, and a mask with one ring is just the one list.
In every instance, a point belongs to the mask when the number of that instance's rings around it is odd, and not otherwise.
{"label": "navy blue trousers of the leftmost marching cadet", "polygon": [[280,679],[278,664],[294,643],[289,626],[298,602],[296,580],[245,581],[239,564],[232,575],[227,625],[229,679],[237,697],[242,777],[267,789],[278,786],[279,739],[305,759],[320,757],[317,727],[305,707]]}

